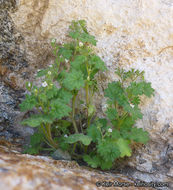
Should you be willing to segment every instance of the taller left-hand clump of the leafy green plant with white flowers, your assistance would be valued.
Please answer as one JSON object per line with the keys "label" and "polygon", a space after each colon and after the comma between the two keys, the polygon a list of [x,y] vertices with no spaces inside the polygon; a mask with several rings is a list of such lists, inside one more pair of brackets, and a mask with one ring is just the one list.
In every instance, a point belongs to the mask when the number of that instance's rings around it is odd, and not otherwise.
{"label": "taller left-hand clump of the leafy green plant with white flowers", "polygon": [[[69,27],[69,37],[72,40],[62,45],[52,40],[55,64],[38,72],[38,77],[44,77],[41,87],[27,82],[26,88],[30,95],[26,95],[20,105],[21,111],[37,109],[39,114],[32,115],[22,124],[39,127],[47,144],[55,149],[61,146],[59,143],[62,143],[62,139],[52,136],[53,128],[59,126],[56,130],[58,137],[81,133],[82,126],[78,126],[76,121],[78,115],[83,115],[80,119],[86,119],[87,126],[90,125],[95,114],[95,106],[92,103],[97,90],[95,75],[106,70],[104,62],[92,50],[96,40],[87,32],[85,21],[73,21]],[[85,91],[84,99],[78,98],[83,105],[81,113],[81,106],[76,108],[76,99],[82,89]]]}

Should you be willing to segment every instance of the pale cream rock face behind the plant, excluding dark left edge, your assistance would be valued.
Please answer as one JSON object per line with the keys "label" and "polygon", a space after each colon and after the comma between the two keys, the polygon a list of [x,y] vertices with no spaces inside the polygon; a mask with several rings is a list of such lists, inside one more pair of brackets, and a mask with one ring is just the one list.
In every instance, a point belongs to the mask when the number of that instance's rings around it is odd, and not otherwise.
{"label": "pale cream rock face behind the plant, excluding dark left edge", "polygon": [[[144,117],[137,126],[147,130],[151,140],[143,150],[139,147],[135,155],[146,159],[150,155],[146,168],[151,168],[154,160],[157,163],[155,175],[172,181],[171,177],[165,177],[170,168],[162,159],[163,152],[165,160],[168,159],[165,149],[173,146],[172,0],[18,0],[17,9],[10,16],[24,39],[20,48],[26,52],[30,68],[50,65],[53,60],[51,39],[68,40],[71,21],[85,19],[88,30],[98,40],[95,50],[109,68],[109,72],[104,73],[106,78],[100,77],[100,90],[116,79],[114,69],[117,66],[145,71],[146,81],[151,82],[155,97],[145,99],[141,106]],[[102,99],[101,90],[96,101],[98,107]],[[134,159],[135,155],[128,163],[137,169],[140,163]],[[169,159],[167,163],[172,168],[171,162]],[[138,178],[138,175],[136,172],[133,177]],[[142,176],[147,178],[147,169]]]}

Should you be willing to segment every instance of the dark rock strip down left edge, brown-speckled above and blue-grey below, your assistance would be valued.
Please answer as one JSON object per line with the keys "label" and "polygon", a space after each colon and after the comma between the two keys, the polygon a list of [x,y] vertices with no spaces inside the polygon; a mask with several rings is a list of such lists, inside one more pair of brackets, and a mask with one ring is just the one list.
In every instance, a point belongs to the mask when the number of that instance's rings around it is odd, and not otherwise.
{"label": "dark rock strip down left edge, brown-speckled above and blue-grey below", "polygon": [[9,141],[19,136],[13,126],[20,114],[17,107],[27,67],[24,50],[20,48],[22,36],[9,15],[15,6],[15,0],[0,0],[0,138]]}

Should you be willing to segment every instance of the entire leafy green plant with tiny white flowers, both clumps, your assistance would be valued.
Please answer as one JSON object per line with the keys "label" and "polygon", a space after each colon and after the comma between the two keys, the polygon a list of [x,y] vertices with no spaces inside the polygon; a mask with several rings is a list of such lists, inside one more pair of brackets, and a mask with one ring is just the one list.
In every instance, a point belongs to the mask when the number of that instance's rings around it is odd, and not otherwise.
{"label": "entire leafy green plant with tiny white flowers, both clumps", "polygon": [[130,144],[148,141],[148,133],[134,125],[142,118],[140,96],[150,97],[153,89],[144,81],[143,72],[118,69],[120,80],[108,84],[105,90],[106,118],[97,118],[93,103],[98,91],[96,76],[106,70],[105,64],[94,53],[96,40],[84,20],[72,22],[69,37],[65,44],[52,40],[55,63],[37,73],[37,77],[43,77],[42,85],[26,84],[30,94],[20,104],[21,111],[36,108],[37,114],[22,124],[39,131],[31,137],[26,152],[37,154],[44,141],[52,150],[60,148],[73,159],[109,169],[116,158],[131,155]]}

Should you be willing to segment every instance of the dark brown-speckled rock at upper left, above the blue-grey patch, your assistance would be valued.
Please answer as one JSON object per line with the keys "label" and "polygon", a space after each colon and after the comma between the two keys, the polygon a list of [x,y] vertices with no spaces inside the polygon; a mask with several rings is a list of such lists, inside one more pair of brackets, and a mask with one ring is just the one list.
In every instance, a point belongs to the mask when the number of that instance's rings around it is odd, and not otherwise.
{"label": "dark brown-speckled rock at upper left, above the blue-grey patch", "polygon": [[[15,1],[2,1],[0,6],[0,77],[12,87],[23,87],[23,81],[19,73],[27,67],[23,50],[20,49],[21,35],[15,30],[9,11],[15,9]],[[19,82],[18,84],[16,84]]]}

